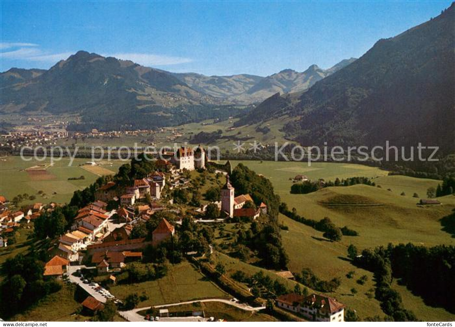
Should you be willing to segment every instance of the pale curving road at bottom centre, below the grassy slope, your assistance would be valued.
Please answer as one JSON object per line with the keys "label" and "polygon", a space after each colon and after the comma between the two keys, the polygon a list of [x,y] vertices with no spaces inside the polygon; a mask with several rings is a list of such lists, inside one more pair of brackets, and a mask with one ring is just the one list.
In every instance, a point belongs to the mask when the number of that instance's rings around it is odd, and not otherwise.
{"label": "pale curving road at bottom centre, below the grassy slope", "polygon": [[[162,305],[155,306],[155,307],[162,308],[162,307],[167,307],[167,306],[178,306],[181,304],[190,304],[190,303],[194,303],[194,302],[222,302],[222,303],[226,303],[230,306],[238,307],[239,309],[242,309],[245,311],[259,311],[259,310],[265,309],[265,306],[259,306],[259,307],[253,308],[252,306],[248,306],[248,305],[241,304],[241,303],[236,303],[236,302],[225,300],[225,299],[194,300],[194,301],[187,301],[187,302],[162,304]],[[119,313],[122,317],[124,317],[126,320],[128,320],[130,322],[146,322],[144,317],[141,316],[140,314],[138,314],[137,312],[142,311],[142,310],[147,310],[149,308],[150,308],[150,306],[146,306],[144,308],[136,308],[136,309],[133,309],[130,311],[120,311]],[[202,317],[178,317],[178,318],[181,319],[180,321],[204,321],[204,319]],[[160,318],[160,321],[176,321],[176,319],[177,318]],[[188,320],[185,320],[185,319],[188,319]]]}

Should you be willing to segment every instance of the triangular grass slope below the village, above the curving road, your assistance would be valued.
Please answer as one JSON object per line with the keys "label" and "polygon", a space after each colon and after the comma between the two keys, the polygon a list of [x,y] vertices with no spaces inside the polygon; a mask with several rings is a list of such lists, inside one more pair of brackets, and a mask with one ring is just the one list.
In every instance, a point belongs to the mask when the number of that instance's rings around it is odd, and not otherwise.
{"label": "triangular grass slope below the village, above the curving road", "polygon": [[139,303],[138,307],[204,298],[228,298],[226,293],[186,261],[179,265],[171,265],[167,275],[159,280],[115,285],[110,291],[120,299],[124,299],[131,293],[146,294],[149,299]]}

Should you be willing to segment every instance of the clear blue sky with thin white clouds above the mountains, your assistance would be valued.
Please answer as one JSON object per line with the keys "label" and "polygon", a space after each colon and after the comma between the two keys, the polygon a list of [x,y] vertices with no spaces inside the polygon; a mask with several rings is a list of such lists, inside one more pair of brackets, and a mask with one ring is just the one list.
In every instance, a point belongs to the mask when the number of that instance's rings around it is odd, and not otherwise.
{"label": "clear blue sky with thin white clouds above the mountains", "polygon": [[267,76],[329,68],[451,1],[0,0],[0,71],[85,50],[171,72]]}

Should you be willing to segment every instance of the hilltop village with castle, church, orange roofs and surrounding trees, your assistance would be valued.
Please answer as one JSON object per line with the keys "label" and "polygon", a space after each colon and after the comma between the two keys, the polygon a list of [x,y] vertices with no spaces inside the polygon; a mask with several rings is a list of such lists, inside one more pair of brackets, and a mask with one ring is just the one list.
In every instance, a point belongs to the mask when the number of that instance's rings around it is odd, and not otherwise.
{"label": "hilltop village with castle, church, orange roofs and surrounding trees", "polygon": [[[170,265],[188,261],[238,308],[255,307],[286,320],[344,321],[344,305],[336,299],[309,293],[303,285],[288,289],[279,281],[294,276],[286,270],[273,218],[279,202],[268,180],[245,166],[231,171],[229,162],[211,163],[202,147],[162,155],[165,159],[133,159],[115,176],[100,177],[76,191],[65,206],[35,203],[26,212],[11,212],[9,202],[0,198],[1,246],[8,246],[9,239],[14,244],[16,228],[33,225],[34,235],[45,240],[39,257],[47,258],[36,278],[50,285],[59,280],[78,285],[85,292],[83,312],[94,317],[114,303],[134,321],[129,310],[143,299],[118,296],[115,285],[157,280],[169,273]],[[237,228],[231,241],[224,239],[227,225]],[[262,273],[228,276],[225,266],[211,259],[215,248],[256,262],[275,281]],[[149,308],[147,317],[169,315],[154,310]]]}

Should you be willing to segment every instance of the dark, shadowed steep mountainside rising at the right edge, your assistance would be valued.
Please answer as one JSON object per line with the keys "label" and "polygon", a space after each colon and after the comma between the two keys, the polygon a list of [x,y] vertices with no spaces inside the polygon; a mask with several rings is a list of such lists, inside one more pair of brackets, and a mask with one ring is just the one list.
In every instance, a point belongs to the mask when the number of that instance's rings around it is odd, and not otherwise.
{"label": "dark, shadowed steep mountainside rising at the right edge", "polygon": [[[303,93],[276,93],[236,123],[294,117],[283,127],[302,145],[439,146],[455,150],[455,5]],[[264,118],[265,117],[265,118]],[[409,152],[407,152],[409,155]]]}

